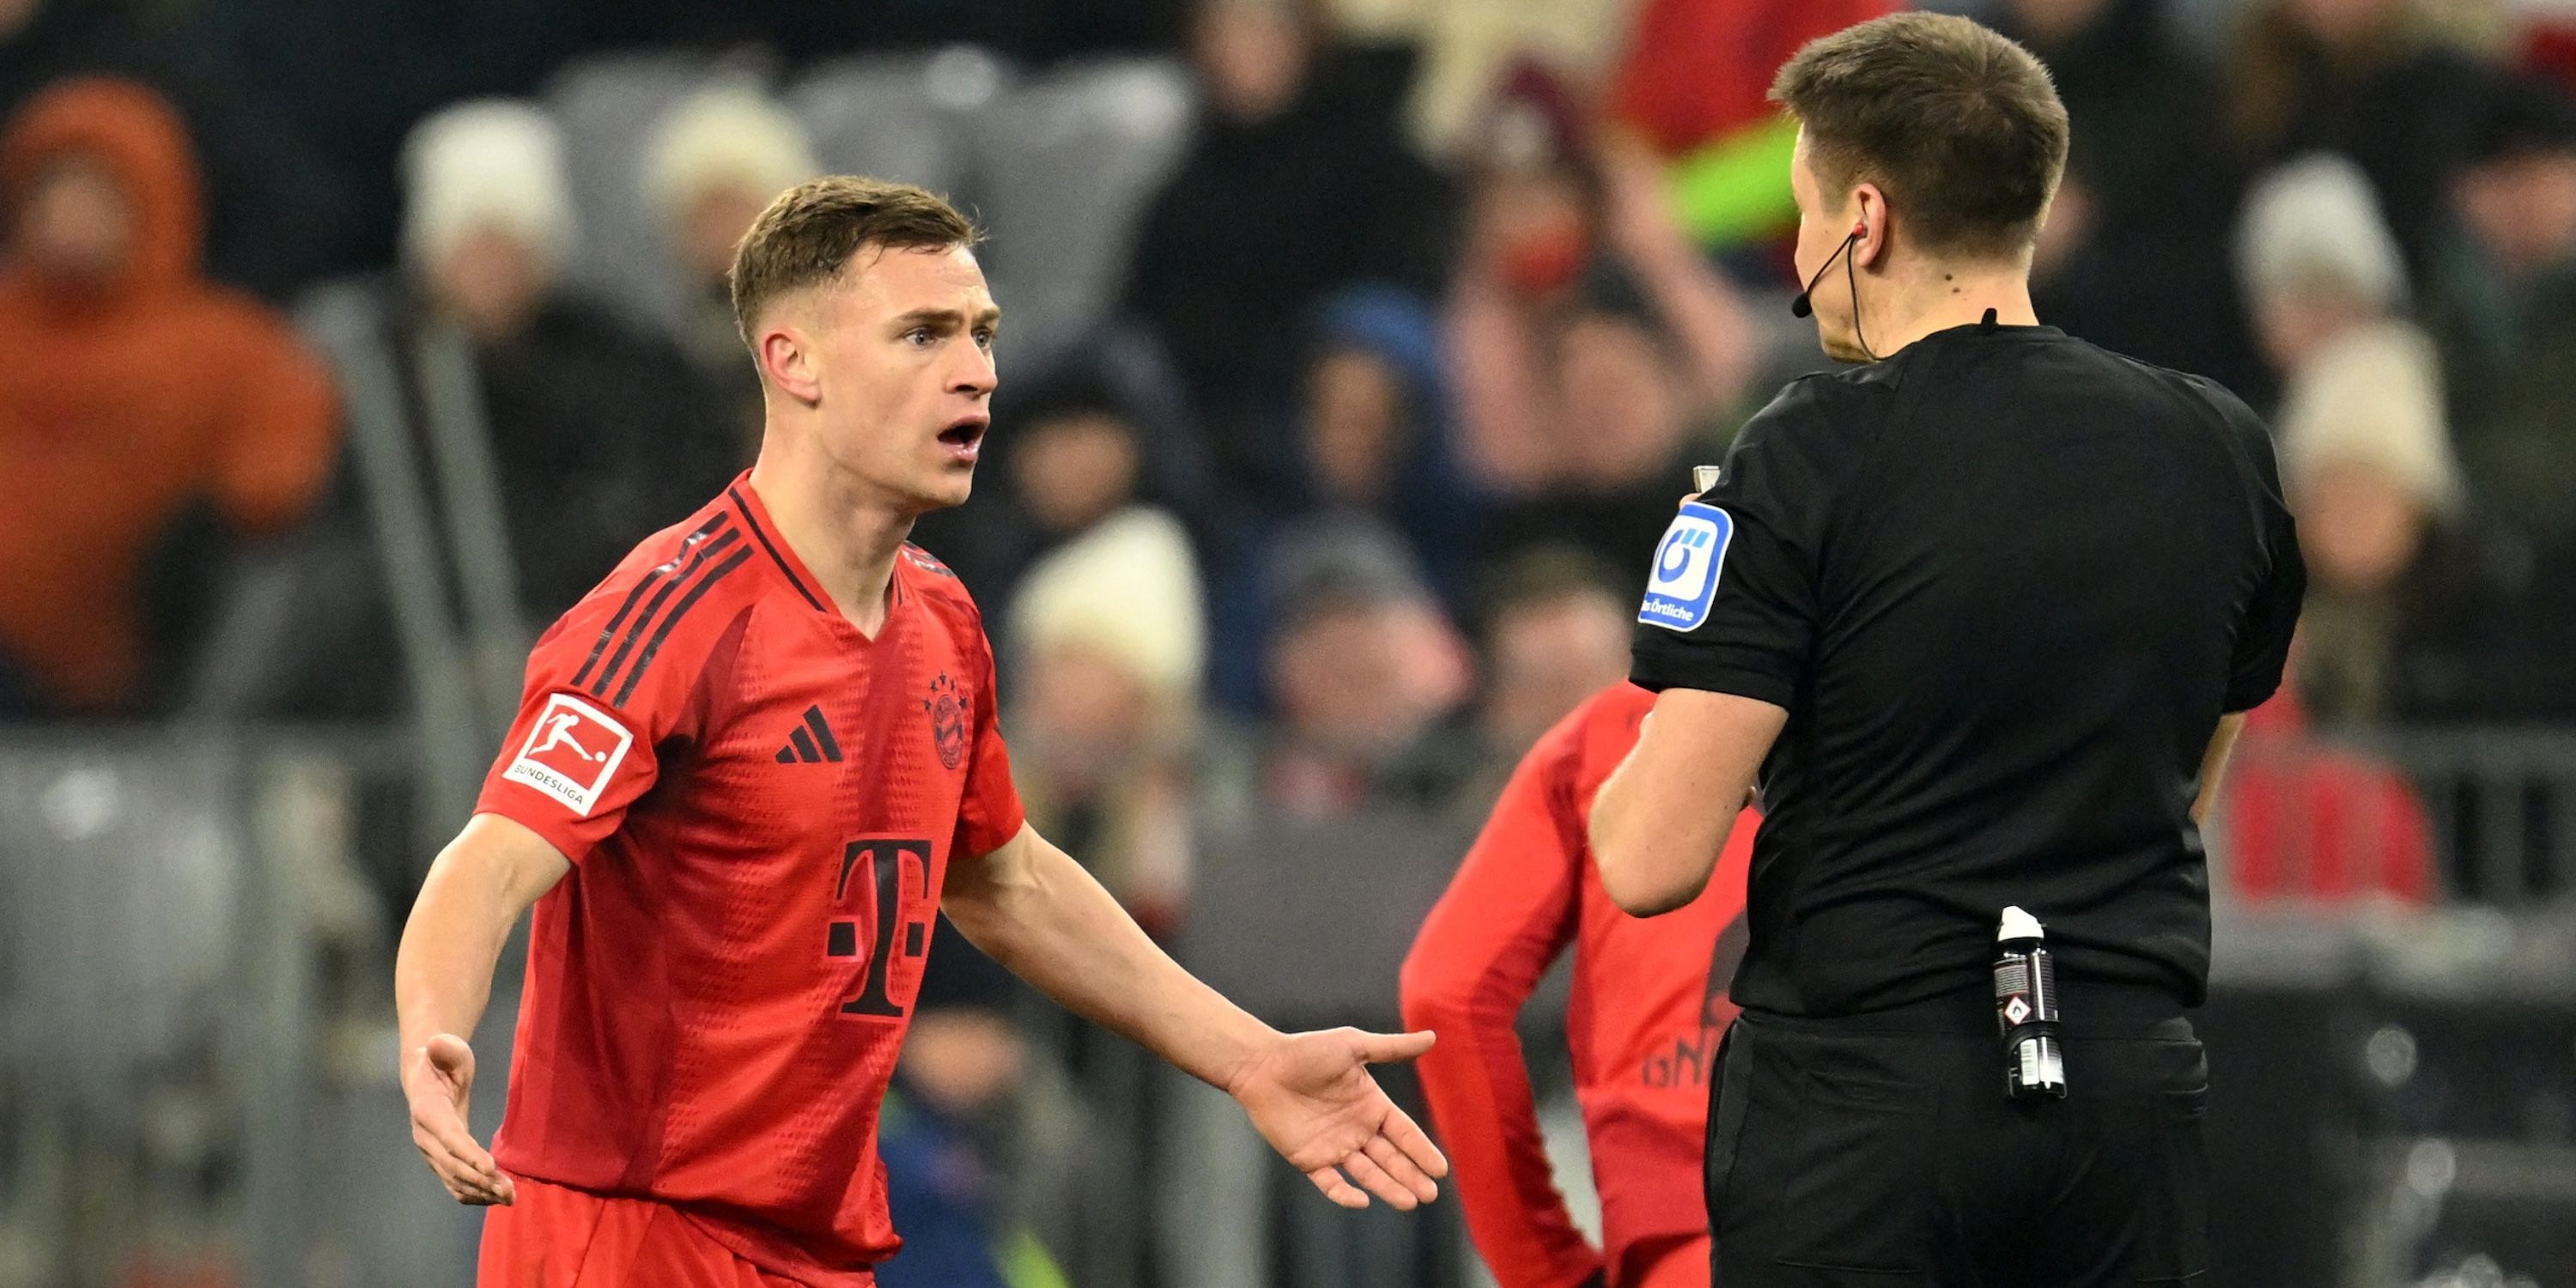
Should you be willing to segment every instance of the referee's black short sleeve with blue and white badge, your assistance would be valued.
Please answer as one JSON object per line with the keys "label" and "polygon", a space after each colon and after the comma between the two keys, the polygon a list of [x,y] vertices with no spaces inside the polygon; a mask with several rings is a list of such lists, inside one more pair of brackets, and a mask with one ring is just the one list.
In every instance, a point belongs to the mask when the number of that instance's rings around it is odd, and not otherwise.
{"label": "referee's black short sleeve with blue and white badge", "polygon": [[1806,379],[1765,407],[1718,484],[1682,505],[1646,569],[1631,680],[1790,706],[1816,644],[1824,531],[1847,425],[1832,381]]}

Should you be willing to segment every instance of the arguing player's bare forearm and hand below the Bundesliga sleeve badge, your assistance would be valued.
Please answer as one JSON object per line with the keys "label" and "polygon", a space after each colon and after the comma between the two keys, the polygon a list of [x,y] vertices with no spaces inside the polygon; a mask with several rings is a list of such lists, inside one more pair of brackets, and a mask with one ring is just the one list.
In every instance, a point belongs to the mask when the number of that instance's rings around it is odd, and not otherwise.
{"label": "arguing player's bare forearm and hand below the Bundesliga sleeve badge", "polygon": [[412,1144],[459,1203],[510,1203],[510,1177],[466,1131],[474,1051],[466,1046],[492,997],[492,966],[528,904],[572,866],[546,837],[500,814],[477,814],[438,853],[420,884],[394,953],[402,1020],[402,1092]]}

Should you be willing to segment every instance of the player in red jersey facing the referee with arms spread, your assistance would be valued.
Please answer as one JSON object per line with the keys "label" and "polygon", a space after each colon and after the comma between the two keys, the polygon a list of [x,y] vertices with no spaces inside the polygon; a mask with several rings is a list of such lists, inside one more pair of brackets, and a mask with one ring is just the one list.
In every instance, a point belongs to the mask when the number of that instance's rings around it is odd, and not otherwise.
{"label": "player in red jersey facing the referee with arms spread", "polygon": [[[1278,1033],[1030,832],[966,590],[904,544],[974,482],[997,309],[974,227],[824,178],[744,234],[760,461],[538,639],[520,716],[402,933],[412,1141],[489,1203],[482,1283],[871,1285],[876,1113],[930,927],[1231,1092],[1334,1203],[1448,1162],[1368,1077],[1430,1033]],[[495,1149],[492,966],[536,904]],[[1363,1193],[1365,1190],[1365,1193]]]}

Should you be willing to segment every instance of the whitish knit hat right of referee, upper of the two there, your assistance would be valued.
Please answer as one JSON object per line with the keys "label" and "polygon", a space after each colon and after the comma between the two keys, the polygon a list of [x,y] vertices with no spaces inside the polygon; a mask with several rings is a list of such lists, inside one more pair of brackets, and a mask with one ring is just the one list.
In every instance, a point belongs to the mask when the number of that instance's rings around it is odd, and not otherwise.
{"label": "whitish knit hat right of referee, upper of the two there", "polygon": [[2311,152],[2246,193],[2236,222],[2236,276],[2254,299],[2344,291],[2380,312],[2406,307],[2406,258],[2360,165]]}

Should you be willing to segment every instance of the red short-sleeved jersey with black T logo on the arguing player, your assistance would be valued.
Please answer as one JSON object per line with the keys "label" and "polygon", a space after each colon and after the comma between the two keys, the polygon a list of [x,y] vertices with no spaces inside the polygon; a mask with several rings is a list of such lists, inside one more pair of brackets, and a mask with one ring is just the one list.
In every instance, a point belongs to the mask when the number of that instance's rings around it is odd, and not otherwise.
{"label": "red short-sleeved jersey with black T logo on the arguing player", "polygon": [[500,1164],[871,1283],[940,881],[1020,829],[992,708],[981,616],[912,546],[876,639],[750,477],[636,546],[538,639],[477,804],[572,860],[536,904]]}

